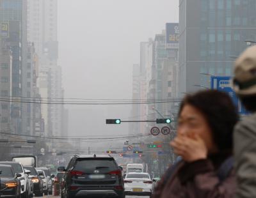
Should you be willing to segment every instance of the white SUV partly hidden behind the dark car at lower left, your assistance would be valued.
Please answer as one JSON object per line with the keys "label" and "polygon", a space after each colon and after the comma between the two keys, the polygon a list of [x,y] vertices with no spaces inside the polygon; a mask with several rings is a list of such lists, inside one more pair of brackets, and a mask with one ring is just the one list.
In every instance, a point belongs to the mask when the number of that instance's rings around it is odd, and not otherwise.
{"label": "white SUV partly hidden behind the dark car at lower left", "polygon": [[23,165],[20,164],[20,162],[0,162],[0,164],[11,165],[14,172],[16,174],[19,174],[19,177],[17,178],[20,180],[21,198],[31,197],[31,192],[30,192],[31,183],[28,178],[30,171],[25,170]]}

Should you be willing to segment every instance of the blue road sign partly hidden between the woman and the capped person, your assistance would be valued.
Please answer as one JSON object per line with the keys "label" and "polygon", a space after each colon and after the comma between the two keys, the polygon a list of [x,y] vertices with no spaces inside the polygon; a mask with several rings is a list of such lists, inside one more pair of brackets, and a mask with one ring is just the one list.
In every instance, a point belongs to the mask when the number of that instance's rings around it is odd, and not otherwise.
{"label": "blue road sign partly hidden between the woman and the capped person", "polygon": [[234,104],[236,105],[239,114],[248,114],[232,88],[232,77],[211,76],[211,89],[217,89],[218,91],[224,91],[228,93],[228,95],[232,98]]}

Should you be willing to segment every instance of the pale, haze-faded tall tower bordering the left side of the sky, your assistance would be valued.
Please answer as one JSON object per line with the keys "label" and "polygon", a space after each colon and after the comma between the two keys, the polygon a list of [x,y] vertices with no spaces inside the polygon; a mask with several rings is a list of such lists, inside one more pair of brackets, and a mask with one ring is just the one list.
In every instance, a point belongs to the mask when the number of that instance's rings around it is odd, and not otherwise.
{"label": "pale, haze-faded tall tower bordering the left side of the sky", "polygon": [[[39,90],[42,98],[63,98],[58,65],[58,0],[28,0],[28,40],[39,59]],[[61,100],[60,100],[61,101]],[[42,105],[46,135],[61,135],[62,105]]]}

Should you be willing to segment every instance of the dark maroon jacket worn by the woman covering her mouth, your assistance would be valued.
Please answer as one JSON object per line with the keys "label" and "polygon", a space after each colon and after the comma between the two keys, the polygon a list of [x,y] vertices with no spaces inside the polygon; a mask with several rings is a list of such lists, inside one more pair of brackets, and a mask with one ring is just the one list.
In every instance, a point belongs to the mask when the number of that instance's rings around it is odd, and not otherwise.
{"label": "dark maroon jacket worn by the woman covering her mouth", "polygon": [[221,181],[218,169],[227,155],[209,156],[206,160],[192,163],[184,161],[175,166],[172,176],[159,181],[154,198],[229,198],[234,197],[236,178],[232,170],[227,178]]}

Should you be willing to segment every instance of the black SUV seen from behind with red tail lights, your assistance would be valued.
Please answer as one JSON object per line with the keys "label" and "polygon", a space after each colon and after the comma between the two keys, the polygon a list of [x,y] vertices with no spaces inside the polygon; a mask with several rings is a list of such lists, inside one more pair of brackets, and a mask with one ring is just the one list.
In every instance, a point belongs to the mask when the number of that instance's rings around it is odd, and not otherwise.
{"label": "black SUV seen from behind with red tail lights", "polygon": [[122,167],[110,155],[75,155],[58,171],[65,171],[61,198],[125,197]]}

